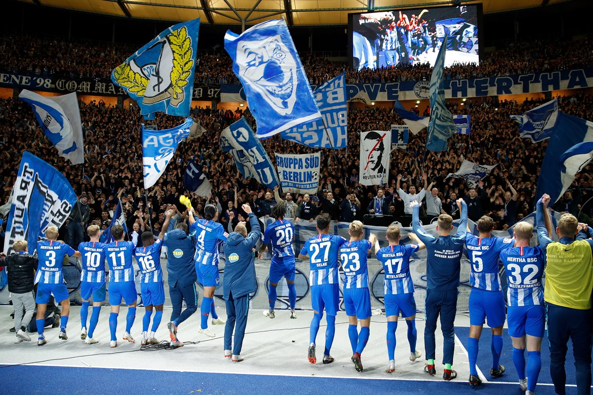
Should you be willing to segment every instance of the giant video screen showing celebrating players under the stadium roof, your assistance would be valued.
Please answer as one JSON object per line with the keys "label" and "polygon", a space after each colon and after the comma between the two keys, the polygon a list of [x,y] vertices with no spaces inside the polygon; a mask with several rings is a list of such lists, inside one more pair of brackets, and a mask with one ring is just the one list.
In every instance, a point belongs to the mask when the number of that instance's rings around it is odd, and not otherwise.
{"label": "giant video screen showing celebrating players under the stadium roof", "polygon": [[461,5],[349,14],[352,67],[360,70],[427,62],[434,65],[445,33],[445,66],[477,64],[481,12],[481,5]]}

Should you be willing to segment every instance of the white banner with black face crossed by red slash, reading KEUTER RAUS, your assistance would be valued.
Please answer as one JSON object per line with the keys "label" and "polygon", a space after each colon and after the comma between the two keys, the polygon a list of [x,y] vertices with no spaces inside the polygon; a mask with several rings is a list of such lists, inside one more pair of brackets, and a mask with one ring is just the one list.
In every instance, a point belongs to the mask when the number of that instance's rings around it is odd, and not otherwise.
{"label": "white banner with black face crossed by red slash, reading KEUTER RAUS", "polygon": [[383,184],[389,175],[391,131],[372,130],[361,133],[362,185]]}

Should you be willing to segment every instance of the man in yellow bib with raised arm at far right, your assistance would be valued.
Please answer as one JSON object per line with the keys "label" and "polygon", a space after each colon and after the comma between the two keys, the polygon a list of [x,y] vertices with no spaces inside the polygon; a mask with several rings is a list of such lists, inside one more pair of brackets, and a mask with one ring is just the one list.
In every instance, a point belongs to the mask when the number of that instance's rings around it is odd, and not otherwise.
{"label": "man in yellow bib with raised arm at far right", "polygon": [[544,299],[550,342],[550,376],[556,393],[565,395],[564,364],[566,343],[570,338],[575,355],[577,393],[590,394],[593,240],[588,239],[586,224],[579,223],[572,214],[563,214],[556,228],[560,242],[553,242],[547,231],[551,229],[548,203],[550,196],[547,194],[537,202],[537,235],[547,256]]}

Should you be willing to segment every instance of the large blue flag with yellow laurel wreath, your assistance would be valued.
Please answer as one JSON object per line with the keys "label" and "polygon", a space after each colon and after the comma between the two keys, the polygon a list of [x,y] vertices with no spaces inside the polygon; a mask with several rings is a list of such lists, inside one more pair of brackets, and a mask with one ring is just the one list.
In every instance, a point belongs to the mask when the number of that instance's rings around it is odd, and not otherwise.
{"label": "large blue flag with yellow laurel wreath", "polygon": [[167,28],[111,73],[146,119],[157,111],[189,117],[199,28],[200,18]]}

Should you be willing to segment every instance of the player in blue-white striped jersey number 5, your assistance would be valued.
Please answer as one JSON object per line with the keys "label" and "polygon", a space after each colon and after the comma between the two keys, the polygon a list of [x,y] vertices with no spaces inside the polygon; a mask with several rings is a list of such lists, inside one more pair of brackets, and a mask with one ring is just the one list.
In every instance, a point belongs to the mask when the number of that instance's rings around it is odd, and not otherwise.
{"label": "player in blue-white striped jersey number 5", "polygon": [[[505,296],[500,287],[498,261],[500,251],[513,246],[515,240],[493,237],[494,220],[489,216],[482,216],[477,221],[479,236],[470,232],[466,234],[467,257],[470,259],[470,336],[467,339],[467,354],[470,361],[471,386],[479,386],[482,380],[478,377],[476,360],[479,351],[479,340],[482,327],[488,319],[488,326],[492,329],[492,367],[490,375],[501,377],[505,372],[504,365],[500,365],[502,351],[502,327],[505,324]],[[469,229],[468,229],[469,230]]]}

